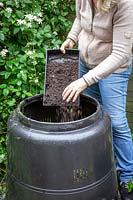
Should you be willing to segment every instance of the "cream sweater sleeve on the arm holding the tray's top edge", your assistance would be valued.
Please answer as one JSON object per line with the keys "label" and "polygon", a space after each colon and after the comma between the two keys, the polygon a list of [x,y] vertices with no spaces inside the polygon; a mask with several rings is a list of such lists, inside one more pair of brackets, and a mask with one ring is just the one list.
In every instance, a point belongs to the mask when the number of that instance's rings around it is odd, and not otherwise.
{"label": "cream sweater sleeve on the arm holding the tray's top edge", "polygon": [[78,36],[81,31],[80,7],[81,7],[81,0],[76,0],[76,18],[67,36],[67,38],[74,40],[75,43],[78,42]]}

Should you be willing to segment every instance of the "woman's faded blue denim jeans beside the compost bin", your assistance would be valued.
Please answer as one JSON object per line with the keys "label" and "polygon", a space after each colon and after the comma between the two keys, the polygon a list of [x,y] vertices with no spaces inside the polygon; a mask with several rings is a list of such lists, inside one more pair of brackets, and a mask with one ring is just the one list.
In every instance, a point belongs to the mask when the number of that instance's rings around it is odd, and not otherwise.
{"label": "woman's faded blue denim jeans beside the compost bin", "polygon": [[[81,61],[80,76],[88,71],[88,67]],[[124,72],[113,73],[83,92],[96,98],[111,117],[116,169],[120,172],[122,182],[128,182],[133,177],[133,143],[126,118],[126,95],[131,71],[132,66]]]}

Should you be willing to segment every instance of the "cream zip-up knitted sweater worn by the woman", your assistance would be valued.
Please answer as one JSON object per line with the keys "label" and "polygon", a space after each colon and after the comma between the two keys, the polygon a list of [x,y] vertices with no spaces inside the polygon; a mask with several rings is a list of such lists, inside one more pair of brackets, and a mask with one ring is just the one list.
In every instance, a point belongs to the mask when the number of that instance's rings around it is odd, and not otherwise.
{"label": "cream zip-up knitted sweater worn by the woman", "polygon": [[76,0],[76,18],[68,34],[78,42],[81,59],[90,69],[88,85],[131,64],[133,0],[118,0],[108,13],[93,10],[92,0]]}

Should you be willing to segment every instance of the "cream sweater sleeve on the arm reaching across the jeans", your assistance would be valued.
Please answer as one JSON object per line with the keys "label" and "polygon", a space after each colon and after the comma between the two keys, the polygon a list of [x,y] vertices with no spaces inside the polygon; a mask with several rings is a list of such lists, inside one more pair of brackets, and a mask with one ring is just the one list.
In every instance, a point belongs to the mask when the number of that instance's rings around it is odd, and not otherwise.
{"label": "cream sweater sleeve on the arm reaching across the jeans", "polygon": [[84,75],[88,85],[98,82],[115,72],[131,59],[133,37],[133,1],[118,4],[113,18],[112,53],[99,65]]}

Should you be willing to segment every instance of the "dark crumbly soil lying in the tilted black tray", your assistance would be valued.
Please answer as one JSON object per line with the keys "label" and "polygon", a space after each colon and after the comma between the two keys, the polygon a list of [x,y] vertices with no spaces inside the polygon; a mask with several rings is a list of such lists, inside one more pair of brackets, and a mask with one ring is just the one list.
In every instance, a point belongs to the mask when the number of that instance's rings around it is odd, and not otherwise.
{"label": "dark crumbly soil lying in the tilted black tray", "polygon": [[78,79],[78,60],[49,61],[46,72],[46,92],[44,94],[44,105],[55,106],[78,106],[76,102],[66,103],[62,99],[62,93],[66,86]]}

